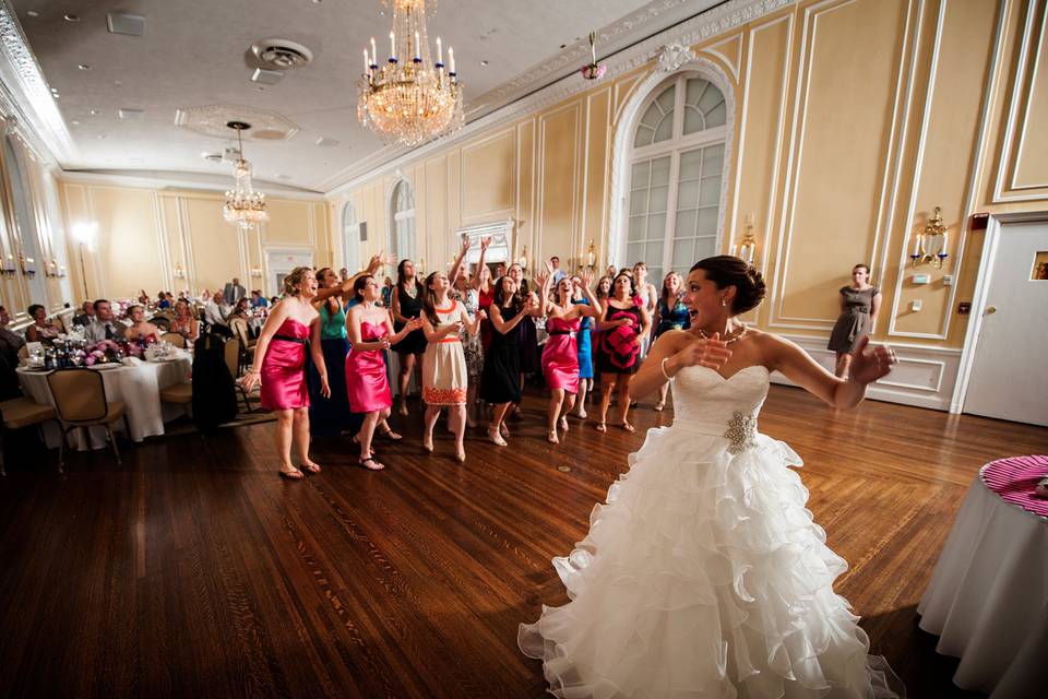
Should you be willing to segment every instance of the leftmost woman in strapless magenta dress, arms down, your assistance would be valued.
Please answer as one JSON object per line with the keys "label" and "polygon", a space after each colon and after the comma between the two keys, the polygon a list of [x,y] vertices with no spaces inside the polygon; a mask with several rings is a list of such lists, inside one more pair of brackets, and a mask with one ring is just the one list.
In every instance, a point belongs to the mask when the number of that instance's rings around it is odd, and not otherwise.
{"label": "leftmost woman in strapless magenta dress, arms down", "polygon": [[262,325],[254,350],[254,363],[243,377],[250,391],[261,379],[262,407],[276,413],[276,450],[281,475],[298,479],[302,472],[291,464],[291,440],[301,467],[318,473],[320,466],[309,458],[309,389],[306,383],[306,345],[309,342],[313,365],[320,375],[321,395],[331,395],[327,368],[320,342],[320,313],[312,306],[317,296],[317,275],[308,266],[295,268],[284,277],[287,297],[276,304]]}

